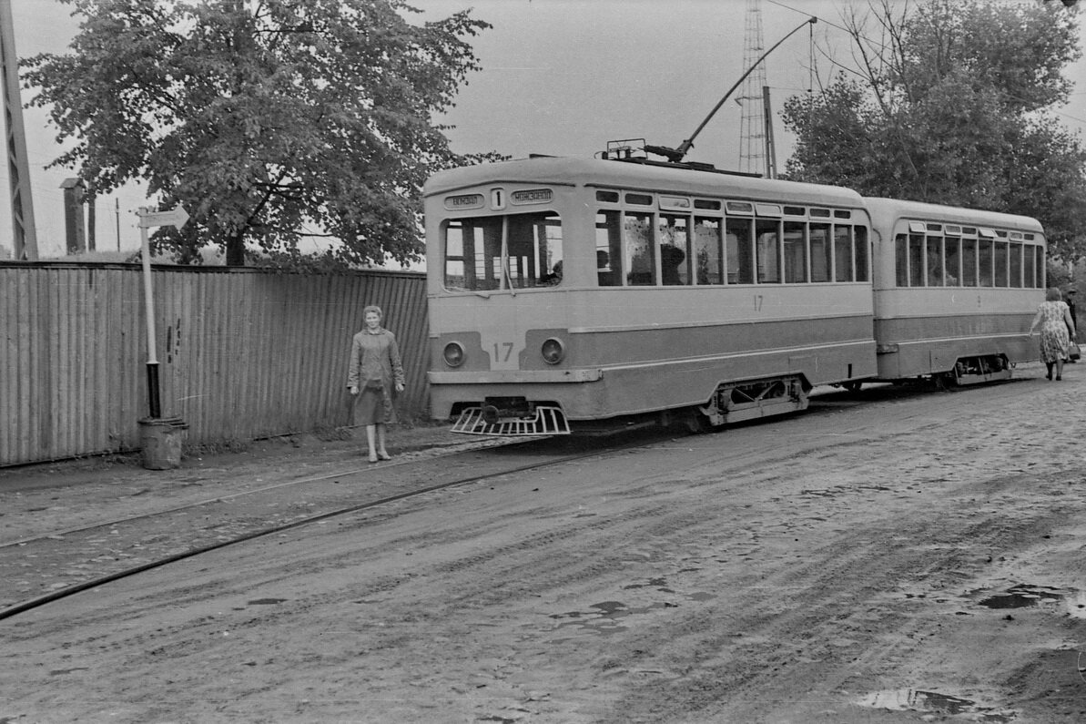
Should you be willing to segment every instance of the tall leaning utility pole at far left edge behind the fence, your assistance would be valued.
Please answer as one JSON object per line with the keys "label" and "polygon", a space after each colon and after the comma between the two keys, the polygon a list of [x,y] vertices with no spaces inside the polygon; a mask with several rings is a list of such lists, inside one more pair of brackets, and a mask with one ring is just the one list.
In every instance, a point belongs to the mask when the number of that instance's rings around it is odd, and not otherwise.
{"label": "tall leaning utility pole at far left edge behind the fence", "polygon": [[23,101],[18,86],[18,55],[15,53],[15,23],[11,15],[11,0],[0,0],[0,64],[3,66],[3,115],[15,259],[37,261],[38,235],[34,227],[30,164],[26,159],[26,130],[23,128]]}

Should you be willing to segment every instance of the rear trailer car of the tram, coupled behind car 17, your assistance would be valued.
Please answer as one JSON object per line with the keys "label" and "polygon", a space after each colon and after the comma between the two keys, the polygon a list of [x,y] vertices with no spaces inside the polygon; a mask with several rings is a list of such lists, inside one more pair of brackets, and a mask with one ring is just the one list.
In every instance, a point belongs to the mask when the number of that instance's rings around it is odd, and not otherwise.
{"label": "rear trailer car of the tram, coupled behind car 17", "polygon": [[964,385],[1034,360],[1045,235],[1027,216],[864,199],[875,239],[879,377]]}

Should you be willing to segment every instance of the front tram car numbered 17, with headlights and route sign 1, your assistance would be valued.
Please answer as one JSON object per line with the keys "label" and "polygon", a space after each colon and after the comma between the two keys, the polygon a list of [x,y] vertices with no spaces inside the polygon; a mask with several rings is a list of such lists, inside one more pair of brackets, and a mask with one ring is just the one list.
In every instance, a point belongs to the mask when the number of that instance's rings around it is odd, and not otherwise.
{"label": "front tram car numbered 17, with headlights and route sign 1", "polygon": [[532,158],[440,172],[425,203],[431,410],[456,430],[719,425],[876,374],[848,189]]}

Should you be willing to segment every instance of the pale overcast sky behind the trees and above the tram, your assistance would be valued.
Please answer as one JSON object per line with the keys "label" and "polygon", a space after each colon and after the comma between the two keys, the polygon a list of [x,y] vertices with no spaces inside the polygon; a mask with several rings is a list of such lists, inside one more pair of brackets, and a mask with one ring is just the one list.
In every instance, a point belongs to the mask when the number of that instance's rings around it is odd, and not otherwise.
{"label": "pale overcast sky behind the trees and above the tram", "polygon": [[[1025,2],[1028,0],[993,0]],[[459,153],[497,151],[592,157],[607,141],[644,138],[678,147],[690,138],[724,92],[747,70],[744,63],[747,0],[413,0],[422,10],[412,22],[472,9],[492,28],[470,40],[482,70],[468,77],[455,108],[437,121]],[[12,2],[20,57],[64,52],[78,29],[71,5],[58,0]],[[828,78],[824,53],[847,60],[842,13],[867,0],[760,0],[762,48],[805,26],[765,61],[779,168],[794,139],[780,121],[786,98]],[[807,27],[806,21],[818,17]],[[1084,18],[1086,20],[1086,18]],[[1086,24],[1086,23],[1084,23]],[[818,51],[813,54],[812,38]],[[1081,40],[1082,42],[1082,40]],[[1086,60],[1069,68],[1071,102],[1058,109],[1069,127],[1086,127]],[[817,80],[813,80],[817,88]],[[686,159],[740,168],[742,108],[725,102],[694,140]],[[33,91],[23,91],[24,103]],[[74,175],[46,170],[60,153],[43,111],[27,109],[27,157],[41,258],[64,253],[61,184]],[[7,164],[0,180],[8,194]],[[136,210],[151,203],[137,187],[101,198],[100,250],[135,251]],[[0,254],[11,249],[10,204],[0,203]]]}

